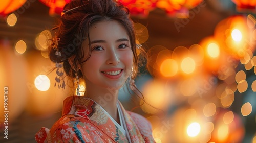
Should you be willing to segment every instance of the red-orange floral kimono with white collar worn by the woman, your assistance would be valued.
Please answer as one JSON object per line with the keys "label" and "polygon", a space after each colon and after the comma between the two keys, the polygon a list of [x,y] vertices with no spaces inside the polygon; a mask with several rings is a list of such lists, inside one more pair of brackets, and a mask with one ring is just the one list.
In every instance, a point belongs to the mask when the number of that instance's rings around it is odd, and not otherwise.
{"label": "red-orange floral kimono with white collar worn by the woman", "polygon": [[63,102],[62,117],[50,130],[42,127],[35,139],[37,142],[155,142],[151,125],[143,116],[126,111],[120,102],[117,107],[121,125],[93,100],[68,97]]}

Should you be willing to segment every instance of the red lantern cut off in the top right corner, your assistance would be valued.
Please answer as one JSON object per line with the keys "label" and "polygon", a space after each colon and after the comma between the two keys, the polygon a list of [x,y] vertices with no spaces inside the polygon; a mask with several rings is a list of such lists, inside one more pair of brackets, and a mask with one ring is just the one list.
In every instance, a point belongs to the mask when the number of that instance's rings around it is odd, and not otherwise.
{"label": "red lantern cut off in the top right corner", "polygon": [[238,11],[256,12],[256,1],[251,0],[232,0],[237,5]]}

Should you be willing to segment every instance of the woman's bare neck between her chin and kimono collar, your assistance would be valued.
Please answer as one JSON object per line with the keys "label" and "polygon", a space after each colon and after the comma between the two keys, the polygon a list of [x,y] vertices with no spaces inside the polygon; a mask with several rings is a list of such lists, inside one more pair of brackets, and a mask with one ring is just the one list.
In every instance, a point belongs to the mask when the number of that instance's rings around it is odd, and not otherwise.
{"label": "woman's bare neck between her chin and kimono collar", "polygon": [[108,112],[115,121],[119,123],[119,117],[117,113],[117,99],[118,90],[111,90],[106,88],[93,89],[86,87],[85,97],[88,97],[98,103],[106,112]]}

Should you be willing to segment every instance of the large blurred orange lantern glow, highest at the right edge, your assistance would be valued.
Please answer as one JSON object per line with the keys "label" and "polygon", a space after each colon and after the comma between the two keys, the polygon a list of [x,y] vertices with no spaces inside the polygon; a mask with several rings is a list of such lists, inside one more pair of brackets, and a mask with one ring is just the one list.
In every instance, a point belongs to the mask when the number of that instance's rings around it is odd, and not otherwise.
{"label": "large blurred orange lantern glow, highest at the right edge", "polygon": [[246,50],[254,51],[254,43],[250,41],[252,31],[247,25],[246,17],[231,16],[218,23],[214,37],[226,52],[239,59]]}

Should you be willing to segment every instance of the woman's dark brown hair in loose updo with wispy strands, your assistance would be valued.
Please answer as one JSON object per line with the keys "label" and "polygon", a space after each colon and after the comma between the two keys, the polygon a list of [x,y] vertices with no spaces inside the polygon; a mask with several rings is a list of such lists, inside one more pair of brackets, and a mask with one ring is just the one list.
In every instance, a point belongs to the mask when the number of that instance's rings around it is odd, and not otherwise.
{"label": "woman's dark brown hair in loose updo with wispy strands", "polygon": [[[132,79],[134,79],[138,73],[139,66],[142,65],[141,61],[146,59],[146,54],[142,47],[136,50],[136,32],[133,21],[130,19],[129,9],[114,0],[75,0],[66,4],[64,10],[71,10],[73,8],[76,9],[66,12],[61,16],[57,31],[57,37],[60,40],[56,49],[53,48],[53,45],[49,46],[50,59],[53,62],[63,62],[66,74],[70,78],[74,78],[75,72],[69,64],[68,59],[74,57],[74,65],[72,66],[77,67],[77,64],[86,62],[90,58],[92,47],[90,44],[89,28],[103,20],[116,20],[125,28],[130,38],[134,57],[132,73]],[[84,49],[82,48],[82,42],[87,38],[90,45],[89,55],[83,55]],[[57,49],[61,53],[61,56],[55,55]],[[83,78],[80,70],[78,76],[79,78]]]}

